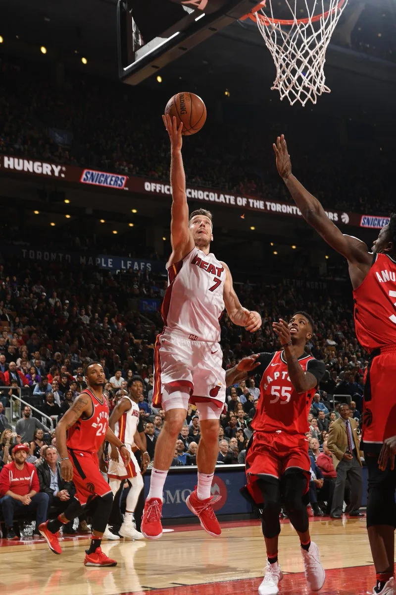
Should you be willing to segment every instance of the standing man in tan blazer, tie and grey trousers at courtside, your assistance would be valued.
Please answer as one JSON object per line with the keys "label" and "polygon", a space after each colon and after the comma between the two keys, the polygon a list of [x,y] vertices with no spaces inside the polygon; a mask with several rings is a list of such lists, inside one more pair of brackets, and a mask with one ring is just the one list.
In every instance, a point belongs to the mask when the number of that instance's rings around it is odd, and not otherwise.
{"label": "standing man in tan blazer, tie and grey trousers at courtside", "polygon": [[350,483],[350,505],[346,512],[350,516],[363,516],[359,512],[362,502],[362,462],[360,461],[359,440],[356,421],[349,416],[349,405],[340,406],[340,417],[332,424],[327,441],[331,452],[337,479],[332,499],[331,518],[341,518],[343,513],[345,484]]}

